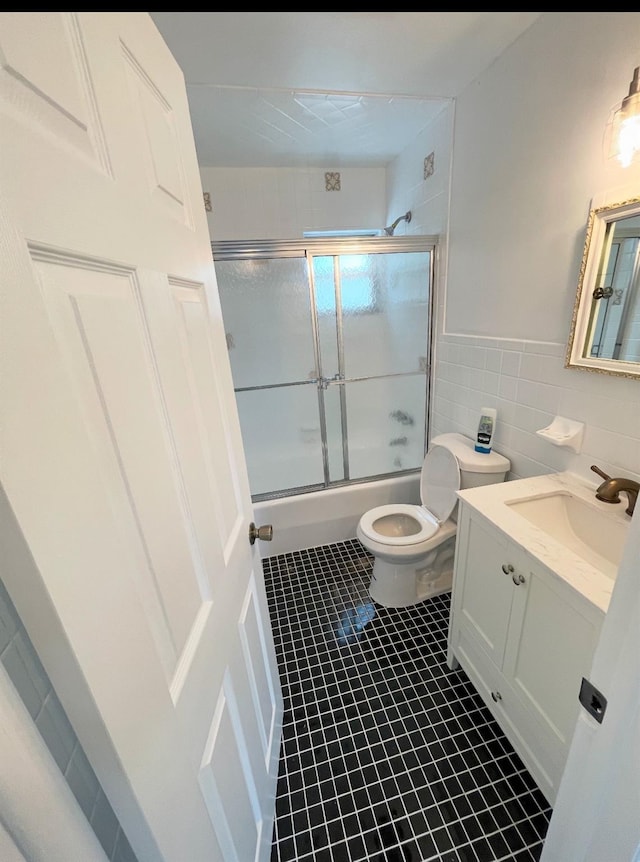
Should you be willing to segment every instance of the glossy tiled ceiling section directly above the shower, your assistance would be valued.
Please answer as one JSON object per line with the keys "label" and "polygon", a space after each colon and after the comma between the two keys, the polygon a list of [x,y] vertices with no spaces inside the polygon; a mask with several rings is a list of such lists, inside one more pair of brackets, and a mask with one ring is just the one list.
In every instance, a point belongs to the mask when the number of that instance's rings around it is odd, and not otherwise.
{"label": "glossy tiled ceiling section directly above the shower", "polygon": [[449,104],[199,84],[187,91],[200,117],[194,131],[202,166],[384,167]]}

